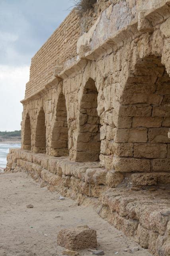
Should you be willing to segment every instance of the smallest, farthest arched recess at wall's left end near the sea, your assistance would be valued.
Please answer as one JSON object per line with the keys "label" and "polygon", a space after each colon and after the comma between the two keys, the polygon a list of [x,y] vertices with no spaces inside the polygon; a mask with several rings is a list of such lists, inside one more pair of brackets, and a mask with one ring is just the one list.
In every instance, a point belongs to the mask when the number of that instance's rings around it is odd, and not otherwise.
{"label": "smallest, farthest arched recess at wall's left end near the sea", "polygon": [[25,125],[24,125],[23,149],[31,150],[31,123],[30,123],[30,118],[28,113],[26,115]]}

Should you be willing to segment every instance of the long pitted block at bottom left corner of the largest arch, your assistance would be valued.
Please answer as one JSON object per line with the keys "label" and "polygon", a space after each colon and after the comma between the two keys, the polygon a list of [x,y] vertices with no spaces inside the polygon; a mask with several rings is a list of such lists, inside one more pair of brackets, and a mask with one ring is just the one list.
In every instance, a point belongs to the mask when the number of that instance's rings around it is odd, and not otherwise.
{"label": "long pitted block at bottom left corner of the largest arch", "polygon": [[138,158],[113,158],[115,171],[150,172],[150,160]]}

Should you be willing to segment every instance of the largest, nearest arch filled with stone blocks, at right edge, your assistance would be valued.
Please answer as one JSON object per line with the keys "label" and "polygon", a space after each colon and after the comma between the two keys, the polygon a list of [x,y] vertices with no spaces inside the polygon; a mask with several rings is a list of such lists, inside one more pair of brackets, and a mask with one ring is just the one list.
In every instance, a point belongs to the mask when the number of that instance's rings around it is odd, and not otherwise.
{"label": "largest, nearest arch filled with stone blocks, at right edge", "polygon": [[[140,59],[121,94],[113,166],[120,172],[170,170],[170,76],[161,58]],[[121,153],[121,154],[120,154]]]}

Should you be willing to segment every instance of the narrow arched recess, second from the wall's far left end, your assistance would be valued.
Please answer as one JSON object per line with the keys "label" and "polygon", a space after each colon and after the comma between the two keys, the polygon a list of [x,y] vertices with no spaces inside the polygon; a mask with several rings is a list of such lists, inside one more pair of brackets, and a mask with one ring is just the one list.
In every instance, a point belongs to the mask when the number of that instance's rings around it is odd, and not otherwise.
{"label": "narrow arched recess, second from the wall's far left end", "polygon": [[37,117],[37,127],[35,131],[35,152],[46,152],[46,127],[45,127],[45,113],[41,109]]}

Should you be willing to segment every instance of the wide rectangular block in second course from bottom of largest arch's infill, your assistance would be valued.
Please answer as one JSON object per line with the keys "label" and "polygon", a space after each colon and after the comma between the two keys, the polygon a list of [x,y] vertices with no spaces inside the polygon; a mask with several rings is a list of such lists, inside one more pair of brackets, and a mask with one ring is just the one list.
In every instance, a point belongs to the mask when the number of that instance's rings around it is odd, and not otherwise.
{"label": "wide rectangular block in second course from bottom of largest arch's infill", "polygon": [[137,158],[166,158],[167,145],[153,143],[135,143],[133,156]]}

